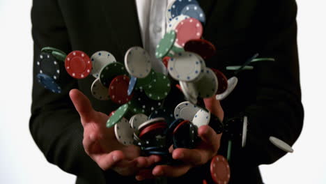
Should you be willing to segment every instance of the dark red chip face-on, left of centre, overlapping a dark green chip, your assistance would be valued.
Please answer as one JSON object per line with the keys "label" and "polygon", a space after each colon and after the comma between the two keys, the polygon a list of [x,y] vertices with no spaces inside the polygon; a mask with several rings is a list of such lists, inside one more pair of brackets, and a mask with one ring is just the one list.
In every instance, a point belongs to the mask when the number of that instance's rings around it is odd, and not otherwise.
{"label": "dark red chip face-on, left of centre, overlapping a dark green chip", "polygon": [[109,96],[112,102],[116,104],[125,104],[129,102],[134,93],[130,95],[127,94],[128,86],[129,77],[127,77],[127,75],[118,75],[118,77],[112,79],[109,86]]}

